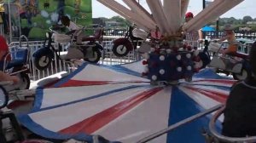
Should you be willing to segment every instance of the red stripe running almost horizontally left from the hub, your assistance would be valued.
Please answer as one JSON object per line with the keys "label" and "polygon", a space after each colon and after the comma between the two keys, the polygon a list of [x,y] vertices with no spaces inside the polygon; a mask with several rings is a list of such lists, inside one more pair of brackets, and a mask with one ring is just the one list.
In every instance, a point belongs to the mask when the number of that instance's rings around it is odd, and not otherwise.
{"label": "red stripe running almost horizontally left from the hub", "polygon": [[73,86],[90,86],[90,85],[103,85],[113,83],[145,83],[143,81],[79,81],[79,80],[68,80],[66,83],[61,84],[61,87],[73,87]]}

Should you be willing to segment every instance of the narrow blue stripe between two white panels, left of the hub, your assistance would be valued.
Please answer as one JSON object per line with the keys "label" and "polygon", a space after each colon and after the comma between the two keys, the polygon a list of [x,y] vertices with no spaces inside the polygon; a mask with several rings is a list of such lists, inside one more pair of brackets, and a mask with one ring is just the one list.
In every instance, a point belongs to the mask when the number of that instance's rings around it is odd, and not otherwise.
{"label": "narrow blue stripe between two white panels, left of the hub", "polygon": [[[68,105],[72,105],[72,104],[75,104],[75,103],[79,103],[79,102],[83,102],[85,100],[92,100],[92,99],[96,99],[96,98],[99,98],[99,97],[102,97],[102,96],[106,96],[106,95],[109,95],[109,94],[113,94],[113,93],[117,93],[117,92],[121,92],[121,91],[125,91],[125,90],[128,90],[128,89],[136,89],[136,88],[141,88],[145,85],[131,85],[131,86],[127,86],[127,87],[124,87],[124,88],[121,88],[121,89],[113,89],[113,90],[110,90],[108,92],[105,92],[105,93],[102,93],[102,94],[96,94],[94,96],[90,96],[90,97],[86,97],[84,99],[81,99],[81,100],[74,100],[74,101],[71,101],[71,102],[67,102],[67,103],[64,103],[64,104],[61,104],[61,105],[57,105],[57,106],[49,106],[49,107],[46,107],[46,108],[42,108],[40,109],[40,106],[36,106],[36,108],[34,108],[32,110],[32,112],[30,113],[33,113],[33,112],[42,112],[42,111],[46,111],[46,110],[50,110],[50,109],[54,109],[54,108],[58,108],[58,107],[61,107],[61,106],[68,106]],[[148,86],[148,85],[146,85]],[[41,101],[40,101],[41,100]],[[37,100],[38,103],[42,103],[42,100],[43,98],[40,98]],[[39,108],[38,108],[39,107]]]}

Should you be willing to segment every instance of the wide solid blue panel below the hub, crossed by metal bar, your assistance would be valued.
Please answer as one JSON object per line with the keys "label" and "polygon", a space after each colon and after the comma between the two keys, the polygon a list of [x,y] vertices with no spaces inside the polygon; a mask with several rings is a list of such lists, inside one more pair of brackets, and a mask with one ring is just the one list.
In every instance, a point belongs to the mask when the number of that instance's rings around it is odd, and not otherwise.
{"label": "wide solid blue panel below the hub, crossed by metal bar", "polygon": [[[202,111],[204,109],[190,99],[187,94],[184,94],[177,87],[172,89],[169,126]],[[201,117],[192,123],[174,129],[167,134],[167,143],[204,143],[205,139],[201,130],[208,129],[209,117]]]}

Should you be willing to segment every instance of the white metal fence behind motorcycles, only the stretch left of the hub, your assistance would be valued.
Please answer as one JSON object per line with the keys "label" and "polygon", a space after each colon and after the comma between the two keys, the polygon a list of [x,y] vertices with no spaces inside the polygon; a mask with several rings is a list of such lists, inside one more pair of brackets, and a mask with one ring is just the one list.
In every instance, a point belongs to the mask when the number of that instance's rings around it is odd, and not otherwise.
{"label": "white metal fence behind motorcycles, only the stretch left of the hub", "polygon": [[[116,37],[105,37],[104,41],[102,42],[102,46],[104,50],[102,51],[102,59],[99,61],[99,64],[102,65],[119,65],[119,64],[125,64],[132,61],[135,61],[138,59],[138,54],[135,50],[132,50],[129,54],[127,54],[125,57],[117,57],[112,52],[113,47],[113,39]],[[19,46],[19,42],[13,42],[9,44],[9,49],[12,50],[15,47]],[[26,42],[21,42],[21,47],[26,47]],[[28,42],[28,49],[30,50],[30,62],[29,67],[31,70],[31,73],[29,76],[33,81],[36,81],[38,79],[41,79],[43,77],[49,77],[52,74],[59,73],[59,72],[73,72],[75,69],[75,66],[72,62],[67,62],[65,60],[58,60],[57,56],[55,55],[55,59],[49,66],[49,68],[45,71],[39,71],[34,66],[34,63],[32,62],[32,54],[42,48],[44,46],[44,41],[30,41]],[[58,43],[53,43],[53,46],[57,47]],[[62,47],[65,46],[65,44],[61,45]]]}

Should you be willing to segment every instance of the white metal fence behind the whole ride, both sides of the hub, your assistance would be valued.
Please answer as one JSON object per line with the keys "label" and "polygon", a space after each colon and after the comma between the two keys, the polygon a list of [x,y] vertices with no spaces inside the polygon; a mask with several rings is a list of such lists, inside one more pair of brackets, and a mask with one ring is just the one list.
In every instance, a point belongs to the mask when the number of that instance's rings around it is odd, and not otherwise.
{"label": "white metal fence behind the whole ride, both sides of the hub", "polygon": [[[125,30],[122,32],[117,31],[118,33],[125,33]],[[106,34],[108,33],[108,34]],[[99,61],[99,64],[101,65],[119,65],[119,64],[125,64],[125,63],[130,63],[132,61],[135,60],[139,60],[140,59],[140,55],[137,54],[136,50],[132,50],[129,54],[127,54],[125,57],[117,57],[113,54],[112,52],[112,47],[113,47],[113,40],[118,38],[118,37],[123,37],[124,35],[113,35],[113,31],[109,31],[106,32],[105,31],[105,36],[104,36],[104,40],[102,42],[102,47],[104,48],[104,50],[102,51],[102,59]],[[213,34],[213,33],[212,33]],[[247,35],[253,35],[255,34],[254,32],[251,32],[251,34]],[[107,35],[107,36],[106,36]],[[242,35],[238,35],[238,37],[245,37],[246,33],[243,33]],[[255,36],[255,35],[254,35]],[[22,42],[23,46],[26,45],[26,42]],[[252,43],[244,43],[241,45],[241,47],[239,48],[239,50],[243,53],[248,53],[249,51],[249,47]],[[19,45],[19,42],[13,42],[9,44],[10,49]],[[29,49],[30,49],[30,57],[31,60],[29,62],[30,65],[30,69],[31,69],[31,73],[30,73],[30,77],[32,80],[38,80],[41,79],[43,77],[48,77],[52,74],[58,73],[58,72],[73,72],[73,69],[75,69],[73,63],[71,62],[66,62],[64,60],[58,60],[56,55],[55,55],[55,59],[54,62],[52,62],[52,64],[49,66],[49,68],[45,71],[38,71],[33,62],[32,62],[32,54],[37,50],[43,47],[44,45],[44,41],[30,41],[28,42],[29,45]],[[53,43],[54,46],[58,46],[58,43]],[[65,45],[62,45],[63,47]],[[203,48],[204,45],[201,44],[199,46],[200,48]]]}

